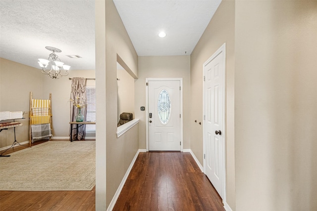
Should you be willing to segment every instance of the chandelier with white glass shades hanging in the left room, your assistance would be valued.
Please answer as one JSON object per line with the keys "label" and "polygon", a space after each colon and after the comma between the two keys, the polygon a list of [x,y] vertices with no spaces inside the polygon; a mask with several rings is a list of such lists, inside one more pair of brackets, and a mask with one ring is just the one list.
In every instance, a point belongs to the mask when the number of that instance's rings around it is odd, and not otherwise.
{"label": "chandelier with white glass shades hanging in the left room", "polygon": [[52,79],[59,79],[60,77],[67,76],[68,70],[70,68],[69,65],[64,65],[63,62],[60,61],[58,56],[55,54],[60,53],[61,50],[56,47],[45,47],[48,50],[53,51],[49,55],[48,59],[39,59],[39,65],[42,68],[42,73],[48,75]]}

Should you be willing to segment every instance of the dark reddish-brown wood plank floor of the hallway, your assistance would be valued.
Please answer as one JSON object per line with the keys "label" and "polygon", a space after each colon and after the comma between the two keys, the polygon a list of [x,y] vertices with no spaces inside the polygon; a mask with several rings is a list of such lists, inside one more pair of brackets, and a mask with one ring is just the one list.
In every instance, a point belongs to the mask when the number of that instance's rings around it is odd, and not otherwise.
{"label": "dark reddish-brown wood plank floor of the hallway", "polygon": [[140,153],[113,211],[224,211],[190,153]]}

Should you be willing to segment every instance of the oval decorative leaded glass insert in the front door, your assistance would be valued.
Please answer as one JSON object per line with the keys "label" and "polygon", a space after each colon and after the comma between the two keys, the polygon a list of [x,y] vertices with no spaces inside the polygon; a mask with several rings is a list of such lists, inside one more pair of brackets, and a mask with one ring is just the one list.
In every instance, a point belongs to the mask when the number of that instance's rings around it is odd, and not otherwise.
{"label": "oval decorative leaded glass insert in the front door", "polygon": [[158,99],[158,111],[159,111],[159,119],[162,124],[166,124],[169,120],[170,114],[170,100],[169,95],[165,89],[163,89],[159,93]]}

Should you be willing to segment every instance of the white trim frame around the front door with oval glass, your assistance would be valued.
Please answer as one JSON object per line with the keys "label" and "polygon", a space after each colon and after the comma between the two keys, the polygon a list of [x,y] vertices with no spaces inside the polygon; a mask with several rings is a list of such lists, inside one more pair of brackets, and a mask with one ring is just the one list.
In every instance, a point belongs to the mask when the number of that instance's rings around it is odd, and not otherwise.
{"label": "white trim frame around the front door with oval glass", "polygon": [[149,86],[150,81],[179,81],[180,83],[180,151],[183,152],[183,78],[146,78],[145,79],[145,122],[146,122],[146,148],[149,152]]}

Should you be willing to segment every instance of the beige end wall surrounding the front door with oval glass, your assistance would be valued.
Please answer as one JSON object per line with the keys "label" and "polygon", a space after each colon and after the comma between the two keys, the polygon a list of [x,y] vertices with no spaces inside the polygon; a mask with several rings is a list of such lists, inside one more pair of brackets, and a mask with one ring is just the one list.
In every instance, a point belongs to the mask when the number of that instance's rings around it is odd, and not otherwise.
{"label": "beige end wall surrounding the front door with oval glass", "polygon": [[140,56],[139,79],[135,82],[135,116],[140,119],[139,148],[146,149],[146,78],[183,78],[183,148],[190,148],[190,56]]}

